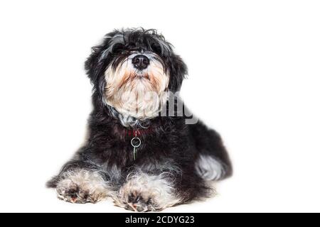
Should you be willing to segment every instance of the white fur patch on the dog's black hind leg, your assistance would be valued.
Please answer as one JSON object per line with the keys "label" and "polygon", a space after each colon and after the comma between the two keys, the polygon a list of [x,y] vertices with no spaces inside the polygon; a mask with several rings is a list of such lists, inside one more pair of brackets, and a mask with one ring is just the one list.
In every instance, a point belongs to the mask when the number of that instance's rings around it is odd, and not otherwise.
{"label": "white fur patch on the dog's black hind leg", "polygon": [[218,180],[225,175],[223,165],[210,155],[200,155],[196,161],[196,171],[205,180]]}

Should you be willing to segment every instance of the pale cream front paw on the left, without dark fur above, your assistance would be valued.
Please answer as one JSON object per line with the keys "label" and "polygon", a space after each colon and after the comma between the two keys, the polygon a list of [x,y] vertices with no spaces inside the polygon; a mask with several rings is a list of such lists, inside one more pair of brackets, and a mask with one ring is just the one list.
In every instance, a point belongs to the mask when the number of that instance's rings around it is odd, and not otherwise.
{"label": "pale cream front paw on the left, without dark fur above", "polygon": [[66,172],[56,187],[58,198],[71,203],[96,203],[105,199],[108,185],[97,172]]}

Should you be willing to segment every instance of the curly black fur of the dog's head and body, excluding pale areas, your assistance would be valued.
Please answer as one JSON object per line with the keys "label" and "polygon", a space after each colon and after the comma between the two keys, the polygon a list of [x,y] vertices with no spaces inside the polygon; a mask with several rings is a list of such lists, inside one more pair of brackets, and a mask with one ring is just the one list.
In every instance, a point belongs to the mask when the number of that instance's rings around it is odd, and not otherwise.
{"label": "curly black fur of the dog's head and body, excluding pale areas", "polygon": [[[180,170],[174,176],[174,187],[176,193],[183,198],[181,202],[208,196],[210,187],[195,170],[199,155],[210,155],[221,163],[225,169],[221,178],[232,173],[228,154],[218,133],[201,122],[186,125],[183,116],[152,118],[149,122],[151,133],[139,136],[143,143],[134,160],[130,145],[132,135],[126,133],[128,128],[110,114],[110,108],[102,101],[106,68],[116,67],[132,50],[155,52],[161,58],[164,69],[169,72],[168,89],[171,92],[180,89],[187,68],[164,36],[155,30],[142,28],[116,30],[105,35],[102,44],[92,48],[92,54],[85,62],[85,70],[93,84],[94,108],[88,122],[87,141],[73,160],[64,165],[59,175],[48,182],[48,187],[56,187],[64,172],[81,168],[99,170],[102,177],[106,181],[112,180],[114,187],[118,189],[133,169],[159,175],[174,165]],[[114,59],[117,60],[113,61]],[[110,62],[114,62],[114,65],[110,65]],[[121,177],[117,179],[109,174],[114,166],[121,172]]]}

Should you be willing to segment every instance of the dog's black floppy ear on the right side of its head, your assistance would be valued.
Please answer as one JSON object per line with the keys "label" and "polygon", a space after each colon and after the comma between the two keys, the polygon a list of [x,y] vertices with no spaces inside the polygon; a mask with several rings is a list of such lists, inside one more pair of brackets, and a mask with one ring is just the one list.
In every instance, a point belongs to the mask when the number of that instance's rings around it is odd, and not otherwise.
{"label": "dog's black floppy ear on the right side of its head", "polygon": [[178,92],[181,88],[183,79],[188,74],[188,68],[183,62],[180,56],[172,55],[170,57],[170,81],[169,81],[169,90],[171,92]]}

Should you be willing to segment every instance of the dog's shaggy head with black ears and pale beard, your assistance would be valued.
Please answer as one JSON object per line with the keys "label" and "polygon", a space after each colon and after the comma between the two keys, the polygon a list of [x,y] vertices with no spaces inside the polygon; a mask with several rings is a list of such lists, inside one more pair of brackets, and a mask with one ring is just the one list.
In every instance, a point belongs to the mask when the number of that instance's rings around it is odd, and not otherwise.
{"label": "dog's shaggy head with black ears and pale beard", "polygon": [[168,92],[177,92],[186,65],[155,30],[113,31],[92,48],[85,70],[94,86],[95,104],[112,106],[137,119],[158,116]]}

